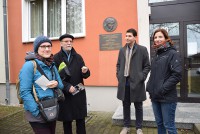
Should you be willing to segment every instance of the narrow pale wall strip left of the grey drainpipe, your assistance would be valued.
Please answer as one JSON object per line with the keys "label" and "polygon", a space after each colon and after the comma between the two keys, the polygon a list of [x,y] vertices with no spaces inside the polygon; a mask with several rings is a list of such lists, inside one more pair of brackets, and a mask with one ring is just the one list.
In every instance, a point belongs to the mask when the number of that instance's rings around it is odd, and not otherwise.
{"label": "narrow pale wall strip left of the grey drainpipe", "polygon": [[[0,1],[0,83],[5,83],[5,57],[4,57],[4,30],[3,30],[3,0]],[[1,89],[0,89],[1,90]]]}

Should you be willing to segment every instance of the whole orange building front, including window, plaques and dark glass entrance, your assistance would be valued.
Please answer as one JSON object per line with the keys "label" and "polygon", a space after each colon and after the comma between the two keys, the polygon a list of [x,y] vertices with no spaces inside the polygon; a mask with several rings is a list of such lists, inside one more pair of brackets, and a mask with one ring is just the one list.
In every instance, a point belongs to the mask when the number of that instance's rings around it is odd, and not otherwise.
{"label": "whole orange building front, including window, plaques and dark glass entrance", "polygon": [[[116,98],[116,62],[119,48],[125,44],[126,30],[135,28],[137,42],[146,46],[152,56],[151,33],[158,27],[168,32],[172,29],[170,36],[178,44],[186,70],[177,86],[179,101],[200,102],[199,87],[194,84],[200,80],[199,3],[199,0],[7,0],[9,89],[6,70],[1,69],[0,103],[18,105],[15,82],[26,52],[33,49],[35,37],[41,34],[50,37],[55,54],[60,50],[59,36],[67,32],[75,36],[74,48],[91,71],[91,77],[85,80],[88,109],[115,111],[121,104]],[[185,10],[188,6],[193,10]],[[182,14],[184,10],[186,14]],[[3,50],[0,49],[0,64],[5,68]]]}

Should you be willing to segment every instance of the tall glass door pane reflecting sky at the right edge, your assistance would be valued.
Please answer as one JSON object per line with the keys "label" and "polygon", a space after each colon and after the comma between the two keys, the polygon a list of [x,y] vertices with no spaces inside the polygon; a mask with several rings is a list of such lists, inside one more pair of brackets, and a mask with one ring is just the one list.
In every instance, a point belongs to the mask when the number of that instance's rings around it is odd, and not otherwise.
{"label": "tall glass door pane reflecting sky at the right edge", "polygon": [[[188,96],[200,95],[200,24],[187,25]],[[192,66],[193,65],[193,66]],[[195,67],[194,67],[195,66]]]}

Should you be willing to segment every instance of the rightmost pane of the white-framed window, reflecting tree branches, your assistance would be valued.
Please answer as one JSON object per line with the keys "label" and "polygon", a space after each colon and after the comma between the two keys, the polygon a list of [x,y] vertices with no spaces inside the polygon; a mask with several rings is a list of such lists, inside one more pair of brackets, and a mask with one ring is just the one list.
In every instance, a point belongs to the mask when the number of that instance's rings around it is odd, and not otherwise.
{"label": "rightmost pane of the white-framed window, reflecting tree branches", "polygon": [[83,32],[82,10],[82,0],[67,0],[67,33],[75,34]]}

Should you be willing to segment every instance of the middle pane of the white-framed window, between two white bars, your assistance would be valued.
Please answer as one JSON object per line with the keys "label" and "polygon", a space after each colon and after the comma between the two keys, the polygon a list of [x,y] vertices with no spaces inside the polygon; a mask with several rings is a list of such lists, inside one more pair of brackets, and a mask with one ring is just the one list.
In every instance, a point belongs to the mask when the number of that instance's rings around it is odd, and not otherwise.
{"label": "middle pane of the white-framed window, between two white bars", "polygon": [[61,35],[61,0],[48,0],[47,6],[47,36]]}

